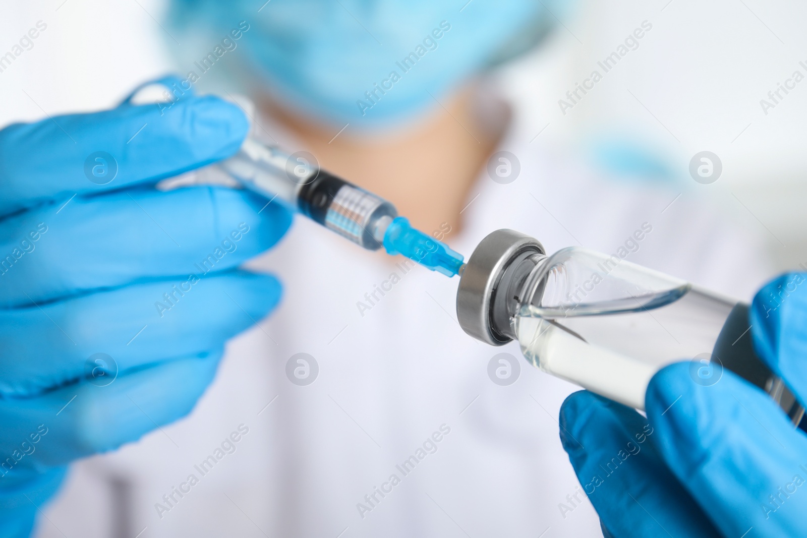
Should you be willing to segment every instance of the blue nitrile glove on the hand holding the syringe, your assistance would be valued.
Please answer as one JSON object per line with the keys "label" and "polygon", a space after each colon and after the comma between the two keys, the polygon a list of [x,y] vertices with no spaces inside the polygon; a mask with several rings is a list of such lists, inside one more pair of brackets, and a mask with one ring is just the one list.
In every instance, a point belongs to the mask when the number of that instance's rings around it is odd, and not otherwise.
{"label": "blue nitrile glove on the hand holding the syringe", "polygon": [[70,461],[186,415],[225,341],[278,302],[274,277],[237,268],[286,211],[154,188],[247,131],[236,106],[191,95],[0,131],[0,536],[28,536]]}

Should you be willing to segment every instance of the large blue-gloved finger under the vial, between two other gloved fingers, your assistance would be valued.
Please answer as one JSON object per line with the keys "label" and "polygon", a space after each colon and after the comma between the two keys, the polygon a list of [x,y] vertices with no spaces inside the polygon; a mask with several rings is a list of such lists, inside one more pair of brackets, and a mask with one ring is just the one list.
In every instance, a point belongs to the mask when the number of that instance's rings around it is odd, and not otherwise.
{"label": "large blue-gloved finger under the vial, between two other gloved fingers", "polygon": [[702,386],[684,362],[654,375],[646,409],[659,453],[723,536],[801,536],[807,437],[767,394],[728,370]]}

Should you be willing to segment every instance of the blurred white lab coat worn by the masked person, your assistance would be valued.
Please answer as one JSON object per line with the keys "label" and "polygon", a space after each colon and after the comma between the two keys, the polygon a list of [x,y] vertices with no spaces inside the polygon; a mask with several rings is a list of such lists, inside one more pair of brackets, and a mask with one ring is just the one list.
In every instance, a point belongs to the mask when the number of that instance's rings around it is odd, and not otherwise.
{"label": "blurred white lab coat worn by the masked person", "polygon": [[[606,177],[531,143],[535,127],[514,123],[504,136],[500,149],[521,173],[501,185],[483,171],[449,241],[458,252],[509,227],[547,252],[611,253],[649,223],[629,261],[744,299],[767,276],[754,238],[687,183]],[[558,409],[575,386],[524,361],[511,386],[491,382],[491,357],[521,357],[517,344],[467,336],[454,311],[458,279],[404,272],[399,261],[296,218],[249,264],[282,280],[278,310],[232,340],[189,417],[74,465],[39,536],[600,536],[558,438]],[[300,352],[319,367],[307,386],[286,376]],[[233,432],[235,452],[199,467]]]}

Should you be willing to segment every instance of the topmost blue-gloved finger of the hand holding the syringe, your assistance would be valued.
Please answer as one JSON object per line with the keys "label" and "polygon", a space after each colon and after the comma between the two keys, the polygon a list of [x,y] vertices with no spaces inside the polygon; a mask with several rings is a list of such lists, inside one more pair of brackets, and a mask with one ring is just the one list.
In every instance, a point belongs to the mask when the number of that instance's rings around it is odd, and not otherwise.
{"label": "topmost blue-gloved finger of the hand holding the syringe", "polygon": [[213,96],[10,125],[0,131],[0,215],[175,176],[231,156],[248,131],[240,108]]}

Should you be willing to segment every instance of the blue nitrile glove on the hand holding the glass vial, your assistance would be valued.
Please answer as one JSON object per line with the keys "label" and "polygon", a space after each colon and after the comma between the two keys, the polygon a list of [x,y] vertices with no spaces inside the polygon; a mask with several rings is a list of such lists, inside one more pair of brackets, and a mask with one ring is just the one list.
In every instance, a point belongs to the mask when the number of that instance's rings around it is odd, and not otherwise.
{"label": "blue nitrile glove on the hand holding the glass vial", "polygon": [[[763,287],[755,349],[807,401],[807,274]],[[650,381],[647,418],[587,391],[560,413],[561,440],[605,536],[807,536],[807,436],[724,370],[703,386],[688,362]]]}

